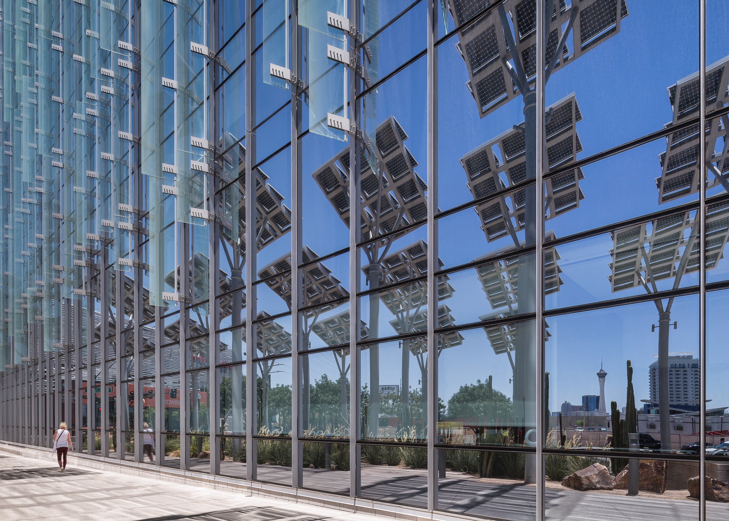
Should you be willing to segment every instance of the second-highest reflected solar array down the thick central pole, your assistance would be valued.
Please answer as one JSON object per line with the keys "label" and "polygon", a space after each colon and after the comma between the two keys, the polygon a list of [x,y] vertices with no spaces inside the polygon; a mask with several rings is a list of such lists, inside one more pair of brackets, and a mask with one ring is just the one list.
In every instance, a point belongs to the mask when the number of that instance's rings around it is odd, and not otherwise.
{"label": "second-highest reflected solar array down the thick central pole", "polygon": [[[582,151],[575,123],[582,120],[574,93],[547,107],[553,109],[545,124],[547,164],[545,172],[569,164]],[[523,123],[522,123],[523,127]],[[496,155],[498,151],[499,155]],[[500,157],[499,157],[500,156]],[[504,190],[507,186],[526,180],[526,144],[524,134],[510,130],[482,144],[461,158],[466,171],[467,187],[474,199]],[[577,168],[550,177],[545,181],[545,220],[580,206],[585,198],[580,190],[584,179]],[[507,203],[509,200],[509,203]],[[477,204],[475,211],[488,242],[515,234],[526,225],[526,190]]]}

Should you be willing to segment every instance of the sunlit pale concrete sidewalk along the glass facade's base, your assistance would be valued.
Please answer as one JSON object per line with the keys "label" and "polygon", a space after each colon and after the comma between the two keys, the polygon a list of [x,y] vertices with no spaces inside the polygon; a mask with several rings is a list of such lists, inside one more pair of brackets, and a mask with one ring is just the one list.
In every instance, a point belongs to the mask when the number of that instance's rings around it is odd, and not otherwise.
{"label": "sunlit pale concrete sidewalk along the glass facade's base", "polygon": [[382,521],[290,501],[252,497],[117,472],[0,455],[3,521]]}

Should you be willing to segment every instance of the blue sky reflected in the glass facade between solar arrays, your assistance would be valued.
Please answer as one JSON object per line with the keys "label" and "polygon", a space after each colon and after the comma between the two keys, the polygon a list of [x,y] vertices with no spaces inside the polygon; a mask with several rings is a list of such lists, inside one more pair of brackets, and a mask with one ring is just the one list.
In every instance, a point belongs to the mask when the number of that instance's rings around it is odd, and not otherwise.
{"label": "blue sky reflected in the glass facade between solar arrays", "polygon": [[[386,12],[389,6],[392,12],[402,10],[401,3],[383,2],[381,20],[391,16]],[[620,33],[555,72],[547,85],[547,105],[575,93],[583,117],[577,123],[577,133],[584,147],[578,158],[663,128],[671,120],[666,88],[698,70],[698,3],[636,0],[628,0],[627,3],[630,14],[622,20]],[[378,53],[382,71],[394,69],[422,49],[425,4],[421,2],[410,13],[410,26],[396,23],[381,35]],[[723,1],[708,2],[708,63],[729,55],[729,30],[725,23],[729,19],[728,9]],[[452,23],[450,16],[448,20]],[[449,39],[438,50],[437,172],[440,209],[448,209],[472,198],[465,185],[466,175],[459,158],[523,121],[521,99],[511,101],[483,119],[478,117],[475,101],[464,85],[468,76],[456,51],[456,41],[456,38]],[[260,90],[266,89],[274,88],[269,85],[260,87]],[[281,99],[272,95],[271,99],[274,98]],[[409,136],[406,146],[420,163],[416,171],[426,180],[425,58],[378,88],[375,98],[377,122],[389,115],[397,118]],[[287,130],[279,132],[286,134]],[[343,142],[318,135],[308,135],[302,142],[304,242],[320,255],[346,247],[348,229],[321,194],[311,172],[345,146]],[[558,237],[562,237],[688,201],[689,198],[685,197],[671,204],[658,204],[655,177],[660,176],[658,155],[665,150],[665,141],[661,139],[585,166],[585,180],[580,182],[585,200],[581,201],[578,209],[548,221],[547,230],[553,229]],[[286,196],[286,204],[290,206],[289,156],[289,150],[285,150],[262,169],[271,177],[270,182],[276,189]],[[489,244],[479,225],[473,209],[442,220],[439,256],[445,266],[469,262],[510,244],[507,239]],[[418,239],[426,239],[426,227],[399,239],[392,248],[404,247]],[[259,266],[288,252],[289,244],[284,238],[260,252]],[[547,298],[547,308],[642,293],[643,290],[639,289],[616,294],[610,292],[607,265],[611,247],[609,236],[559,247],[564,285],[558,293]],[[727,262],[723,259],[716,269],[709,272],[709,281],[727,278]],[[340,280],[348,280],[348,255],[325,264]],[[695,283],[695,276],[687,276],[682,285]],[[348,287],[346,282],[345,285]],[[456,293],[444,304],[453,310],[456,323],[473,322],[480,314],[490,310],[474,270],[453,274],[451,285]],[[270,296],[272,309],[275,306],[273,297]],[[263,295],[260,298],[260,309],[263,309],[262,303],[267,303],[269,298]],[[338,309],[337,312],[340,311]],[[381,334],[392,334],[394,331],[388,331],[389,324],[383,318],[384,315],[381,318]],[[658,333],[651,333],[650,326],[657,320],[652,302],[550,318],[547,322],[552,337],[546,348],[547,370],[553,374],[550,409],[558,409],[565,400],[579,404],[583,394],[599,392],[595,373],[599,370],[600,358],[603,358],[608,372],[607,401],[616,400],[619,406],[625,405],[625,360],[628,358],[633,361],[636,371],[636,398],[647,398],[647,366],[655,360],[652,355],[657,352],[658,342]],[[671,329],[671,352],[695,352],[698,356],[697,298],[677,299],[672,320],[678,320],[679,327],[675,331]],[[714,323],[710,324],[710,329],[714,328]],[[719,338],[719,332],[712,329],[709,340]],[[725,347],[714,349],[725,350]],[[475,360],[482,363],[471,363]],[[504,355],[493,354],[483,333],[480,336],[475,336],[475,333],[469,335],[464,346],[453,348],[453,352],[448,353],[447,363],[443,363],[445,367],[458,368],[453,378],[447,379],[447,382],[442,380],[441,394],[444,398],[457,390],[461,383],[483,380],[488,374],[494,375],[497,388],[510,389],[508,361]],[[728,375],[727,366],[714,364],[714,360],[709,360],[709,363],[709,382],[714,382],[709,390],[709,397],[714,395],[712,406],[729,406],[729,377],[725,377]]]}

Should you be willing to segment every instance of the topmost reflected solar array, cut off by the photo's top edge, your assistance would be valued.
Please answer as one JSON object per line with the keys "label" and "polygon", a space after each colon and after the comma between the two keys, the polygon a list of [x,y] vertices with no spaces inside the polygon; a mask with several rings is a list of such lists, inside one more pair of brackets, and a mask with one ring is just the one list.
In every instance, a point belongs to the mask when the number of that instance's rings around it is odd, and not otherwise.
{"label": "topmost reflected solar array, cut off by the photo's top edge", "polygon": [[[448,10],[456,26],[461,26],[490,3],[489,0],[448,0]],[[551,26],[554,28],[550,30],[545,49],[547,63],[554,54],[551,69],[574,61],[615,36],[620,32],[620,20],[628,15],[625,0],[582,0],[579,6],[573,1],[571,9],[568,9],[565,0],[552,4]],[[517,35],[515,46],[518,58],[521,58],[519,66],[523,67],[529,85],[533,85],[537,74],[537,2],[507,0],[502,5],[504,12],[510,15]],[[545,9],[548,7],[545,6]],[[513,70],[515,64],[504,35],[500,10],[501,7],[491,9],[475,24],[459,31],[459,42],[456,43],[468,70],[466,86],[476,101],[480,117],[522,94],[510,76],[509,69]],[[570,24],[573,31],[569,31]],[[572,39],[568,38],[570,32]],[[511,35],[508,37],[510,39]],[[561,47],[561,53],[555,53],[558,47]]]}

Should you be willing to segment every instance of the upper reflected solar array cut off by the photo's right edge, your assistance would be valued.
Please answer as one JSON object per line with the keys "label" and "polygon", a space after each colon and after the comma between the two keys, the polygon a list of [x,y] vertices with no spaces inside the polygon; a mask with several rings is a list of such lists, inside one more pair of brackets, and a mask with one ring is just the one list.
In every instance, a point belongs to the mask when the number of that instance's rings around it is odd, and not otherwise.
{"label": "upper reflected solar array cut off by the photo's right edge", "polygon": [[[700,106],[698,72],[679,80],[668,87],[668,99],[674,118],[664,128],[682,123],[687,117],[695,117]],[[729,101],[729,56],[706,67],[706,107],[715,105],[721,108]],[[729,117],[706,120],[704,140],[706,141],[706,166],[712,175],[706,188],[717,184],[724,185],[729,192],[729,143],[727,128]],[[658,188],[658,204],[672,201],[677,197],[689,196],[698,192],[699,155],[698,123],[666,136],[666,152],[658,156],[660,177],[655,180]]]}

